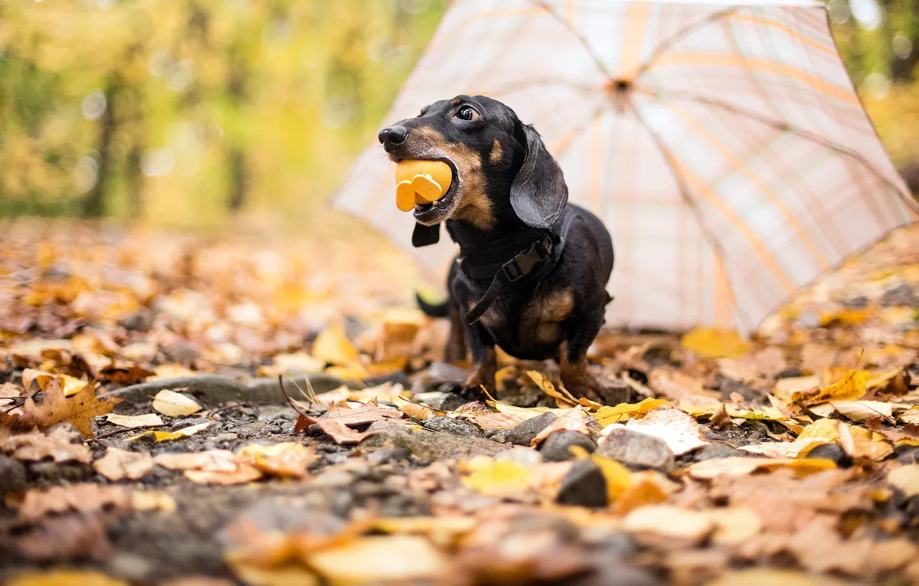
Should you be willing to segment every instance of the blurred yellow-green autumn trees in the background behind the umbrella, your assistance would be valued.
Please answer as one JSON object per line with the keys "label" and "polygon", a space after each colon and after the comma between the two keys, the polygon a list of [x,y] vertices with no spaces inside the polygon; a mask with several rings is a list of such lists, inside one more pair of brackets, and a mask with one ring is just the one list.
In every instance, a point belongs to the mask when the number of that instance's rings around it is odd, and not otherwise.
{"label": "blurred yellow-green autumn trees in the background behind the umbrella", "polygon": [[[447,6],[0,0],[0,216],[355,231],[326,201]],[[919,189],[919,0],[828,9],[868,113]]]}

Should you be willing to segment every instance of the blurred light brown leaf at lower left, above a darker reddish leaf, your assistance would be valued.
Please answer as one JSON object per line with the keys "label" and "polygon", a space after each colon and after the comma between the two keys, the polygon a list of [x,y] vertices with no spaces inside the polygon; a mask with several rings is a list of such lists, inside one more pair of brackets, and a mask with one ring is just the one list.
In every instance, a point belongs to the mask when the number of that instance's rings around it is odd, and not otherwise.
{"label": "blurred light brown leaf at lower left, above a darker reddish leaf", "polygon": [[54,486],[48,490],[28,490],[25,499],[19,505],[19,518],[29,523],[49,513],[86,513],[109,506],[126,509],[129,505],[129,495],[121,487],[85,482],[70,486]]}

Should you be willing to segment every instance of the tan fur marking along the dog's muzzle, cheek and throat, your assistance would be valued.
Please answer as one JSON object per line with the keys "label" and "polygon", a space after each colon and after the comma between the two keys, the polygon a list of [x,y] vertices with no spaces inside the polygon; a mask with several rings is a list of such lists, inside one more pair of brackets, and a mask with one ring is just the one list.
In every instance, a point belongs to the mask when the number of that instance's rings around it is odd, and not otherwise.
{"label": "tan fur marking along the dog's muzzle, cheek and throat", "polygon": [[[495,219],[492,202],[485,195],[485,177],[482,174],[482,157],[465,144],[444,141],[436,130],[413,130],[417,140],[427,142],[434,151],[447,155],[457,167],[459,192],[455,195],[453,220],[468,221],[481,230],[491,230]],[[456,180],[456,179],[454,179]]]}

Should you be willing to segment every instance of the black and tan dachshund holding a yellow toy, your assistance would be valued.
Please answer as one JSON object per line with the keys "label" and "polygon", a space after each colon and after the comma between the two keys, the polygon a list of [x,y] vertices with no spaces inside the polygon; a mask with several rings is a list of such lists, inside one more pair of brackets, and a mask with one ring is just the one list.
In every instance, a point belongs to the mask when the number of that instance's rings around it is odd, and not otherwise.
{"label": "black and tan dachshund holding a yellow toy", "polygon": [[445,223],[459,244],[450,298],[422,309],[452,320],[448,361],[470,346],[467,385],[494,388],[498,344],[517,358],[557,358],[565,386],[596,399],[586,352],[610,300],[613,244],[603,222],[568,203],[539,133],[501,102],[457,96],[381,130],[380,142],[397,163],[442,161],[453,172],[444,197],[415,206],[413,242],[437,242]]}

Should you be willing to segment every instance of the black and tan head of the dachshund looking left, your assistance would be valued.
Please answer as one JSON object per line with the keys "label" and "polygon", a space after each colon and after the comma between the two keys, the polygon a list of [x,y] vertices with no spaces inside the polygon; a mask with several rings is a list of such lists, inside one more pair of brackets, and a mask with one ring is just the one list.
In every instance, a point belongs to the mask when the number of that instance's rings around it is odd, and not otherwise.
{"label": "black and tan head of the dachshund looking left", "polygon": [[490,230],[513,214],[535,228],[550,228],[568,201],[562,168],[539,133],[514,110],[485,96],[457,96],[421,110],[380,131],[392,161],[442,161],[453,171],[447,193],[416,205],[414,218],[433,226],[464,220]]}

